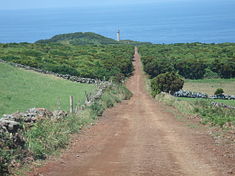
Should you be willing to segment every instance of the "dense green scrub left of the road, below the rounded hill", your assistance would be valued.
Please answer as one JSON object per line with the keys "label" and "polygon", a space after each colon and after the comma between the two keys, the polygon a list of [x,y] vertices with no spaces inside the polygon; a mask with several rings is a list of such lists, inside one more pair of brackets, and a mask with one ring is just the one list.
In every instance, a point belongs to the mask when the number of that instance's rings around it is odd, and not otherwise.
{"label": "dense green scrub left of the road, below the rounded hill", "polygon": [[109,79],[132,73],[130,45],[0,44],[0,59],[79,77]]}

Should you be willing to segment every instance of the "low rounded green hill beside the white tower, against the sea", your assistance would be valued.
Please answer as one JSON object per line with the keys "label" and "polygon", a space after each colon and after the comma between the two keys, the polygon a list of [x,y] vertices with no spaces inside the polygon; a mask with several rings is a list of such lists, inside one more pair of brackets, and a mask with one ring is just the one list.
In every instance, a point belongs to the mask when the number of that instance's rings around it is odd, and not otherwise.
{"label": "low rounded green hill beside the white tower, against the sea", "polygon": [[36,43],[63,43],[72,45],[101,45],[101,44],[118,44],[116,40],[104,37],[92,32],[76,32],[69,34],[60,34],[47,40],[39,40]]}

